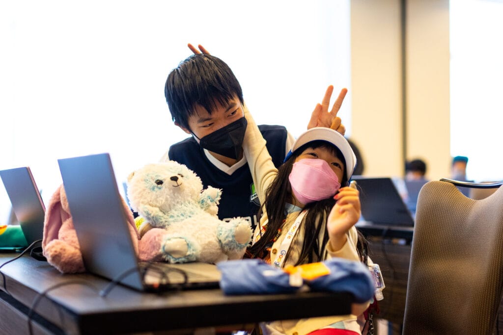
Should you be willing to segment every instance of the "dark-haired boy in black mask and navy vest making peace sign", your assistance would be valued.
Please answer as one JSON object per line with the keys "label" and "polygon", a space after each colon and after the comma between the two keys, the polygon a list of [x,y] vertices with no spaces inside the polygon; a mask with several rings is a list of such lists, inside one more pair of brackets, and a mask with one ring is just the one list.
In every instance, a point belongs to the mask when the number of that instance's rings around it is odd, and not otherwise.
{"label": "dark-haired boy in black mask and navy vest making peace sign", "polygon": [[[191,45],[189,48],[195,54],[170,72],[164,95],[175,125],[192,136],[172,145],[161,161],[185,164],[201,178],[205,188],[222,189],[220,219],[241,216],[248,218],[255,227],[260,202],[242,151],[246,119],[241,86],[222,60],[201,46],[203,53],[197,53]],[[328,95],[328,101],[329,98]],[[321,112],[322,107],[318,106]],[[315,117],[316,110],[310,121],[310,124],[314,122],[313,126],[319,125],[321,120]],[[333,119],[340,123],[340,118],[329,117],[329,113],[324,118],[329,120],[327,127]],[[343,132],[344,126],[341,127],[342,131],[338,131]],[[294,138],[283,126],[261,125],[259,129],[267,141],[274,165],[279,167]]]}

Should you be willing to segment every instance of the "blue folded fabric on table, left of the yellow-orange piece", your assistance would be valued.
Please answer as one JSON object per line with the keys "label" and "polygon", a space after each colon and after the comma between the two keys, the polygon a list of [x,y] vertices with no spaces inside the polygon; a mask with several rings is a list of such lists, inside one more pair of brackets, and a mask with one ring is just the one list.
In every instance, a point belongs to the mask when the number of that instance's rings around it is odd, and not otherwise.
{"label": "blue folded fabric on table, left of the yellow-orange piece", "polygon": [[290,275],[261,259],[243,259],[217,264],[222,273],[220,288],[225,294],[290,293],[299,287],[289,284]]}

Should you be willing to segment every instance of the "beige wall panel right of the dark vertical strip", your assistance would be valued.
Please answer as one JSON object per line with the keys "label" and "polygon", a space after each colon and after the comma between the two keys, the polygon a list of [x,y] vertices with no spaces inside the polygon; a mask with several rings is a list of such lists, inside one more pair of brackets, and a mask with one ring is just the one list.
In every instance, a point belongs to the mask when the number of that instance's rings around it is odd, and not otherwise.
{"label": "beige wall panel right of the dark vertical strip", "polygon": [[449,1],[409,0],[406,13],[407,158],[449,177]]}

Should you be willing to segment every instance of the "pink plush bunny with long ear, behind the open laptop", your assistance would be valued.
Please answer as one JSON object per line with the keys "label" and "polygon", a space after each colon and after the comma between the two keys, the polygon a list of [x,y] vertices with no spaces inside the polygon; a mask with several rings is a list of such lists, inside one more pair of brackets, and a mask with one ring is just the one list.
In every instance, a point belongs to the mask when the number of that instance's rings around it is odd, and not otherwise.
{"label": "pink plush bunny with long ear, behind the open laptop", "polygon": [[[136,230],[133,214],[124,199],[122,202],[127,215],[131,240],[140,260],[161,260],[161,236],[165,234],[164,231],[152,229],[144,240],[139,240],[140,236]],[[56,189],[45,212],[42,250],[47,262],[61,273],[86,271],[63,185]]]}

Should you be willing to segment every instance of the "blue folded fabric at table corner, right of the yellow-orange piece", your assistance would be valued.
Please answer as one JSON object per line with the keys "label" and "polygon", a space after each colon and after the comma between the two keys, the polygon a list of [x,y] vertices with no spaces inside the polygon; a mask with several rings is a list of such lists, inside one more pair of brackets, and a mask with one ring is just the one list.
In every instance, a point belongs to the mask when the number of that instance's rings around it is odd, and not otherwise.
{"label": "blue folded fabric at table corner, right of the yellow-orange piece", "polygon": [[330,274],[307,282],[311,290],[350,292],[358,303],[368,301],[374,296],[374,281],[365,264],[343,258],[332,258],[323,263],[330,270]]}

